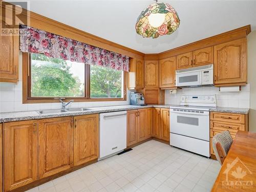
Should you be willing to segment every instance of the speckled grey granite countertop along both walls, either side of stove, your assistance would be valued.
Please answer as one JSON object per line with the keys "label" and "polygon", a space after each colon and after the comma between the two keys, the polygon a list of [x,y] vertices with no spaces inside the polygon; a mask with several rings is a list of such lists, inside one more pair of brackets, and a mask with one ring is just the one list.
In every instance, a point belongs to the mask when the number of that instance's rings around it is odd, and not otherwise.
{"label": "speckled grey granite countertop along both walls, either side of stove", "polygon": [[[31,119],[45,119],[53,117],[66,117],[66,116],[76,116],[76,115],[88,115],[95,113],[106,113],[106,112],[116,112],[116,111],[126,111],[126,110],[136,110],[143,108],[170,108],[170,107],[179,107],[180,105],[174,104],[159,104],[159,105],[145,105],[145,106],[136,106],[136,105],[115,105],[115,106],[100,106],[89,108],[88,111],[76,111],[76,112],[64,112],[64,113],[52,113],[52,114],[39,114],[37,111],[26,111],[26,112],[9,112],[9,113],[0,113],[0,123],[2,122],[11,122],[11,121],[21,121],[21,120],[31,120]],[[225,112],[225,113],[240,113],[248,114],[249,109],[245,108],[211,108],[212,112]]]}

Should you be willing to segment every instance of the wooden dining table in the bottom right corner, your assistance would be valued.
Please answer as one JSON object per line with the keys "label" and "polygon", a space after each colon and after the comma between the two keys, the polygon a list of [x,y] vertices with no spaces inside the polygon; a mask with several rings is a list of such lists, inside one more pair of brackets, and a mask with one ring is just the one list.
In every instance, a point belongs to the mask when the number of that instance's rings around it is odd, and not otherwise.
{"label": "wooden dining table in the bottom right corner", "polygon": [[256,133],[238,131],[211,191],[256,191]]}

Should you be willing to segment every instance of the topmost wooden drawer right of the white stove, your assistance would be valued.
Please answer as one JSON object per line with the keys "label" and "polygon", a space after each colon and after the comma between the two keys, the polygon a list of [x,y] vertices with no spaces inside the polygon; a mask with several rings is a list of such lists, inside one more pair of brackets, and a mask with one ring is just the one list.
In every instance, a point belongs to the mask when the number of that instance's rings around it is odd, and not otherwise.
{"label": "topmost wooden drawer right of the white stove", "polygon": [[211,112],[210,120],[245,124],[245,115],[244,114],[234,114],[234,113]]}

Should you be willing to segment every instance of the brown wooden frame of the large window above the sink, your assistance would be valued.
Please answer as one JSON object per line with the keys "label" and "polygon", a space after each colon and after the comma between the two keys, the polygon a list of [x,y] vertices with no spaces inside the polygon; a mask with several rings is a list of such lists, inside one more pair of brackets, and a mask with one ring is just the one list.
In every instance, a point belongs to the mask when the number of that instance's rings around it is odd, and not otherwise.
{"label": "brown wooden frame of the large window above the sink", "polygon": [[[31,97],[31,54],[22,53],[23,69],[23,103],[53,103],[59,102],[60,97]],[[65,97],[63,101],[71,99],[74,102],[91,101],[126,101],[127,72],[123,72],[123,98],[90,98],[90,65],[84,65],[84,97]]]}

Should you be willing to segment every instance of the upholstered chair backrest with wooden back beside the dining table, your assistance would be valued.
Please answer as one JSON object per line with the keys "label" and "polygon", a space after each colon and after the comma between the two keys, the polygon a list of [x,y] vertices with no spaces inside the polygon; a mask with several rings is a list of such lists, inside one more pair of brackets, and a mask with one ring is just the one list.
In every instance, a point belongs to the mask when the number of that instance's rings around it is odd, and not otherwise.
{"label": "upholstered chair backrest with wooden back beside the dining table", "polygon": [[232,142],[233,142],[233,139],[229,131],[224,131],[222,133],[219,133],[212,138],[212,148],[214,149],[216,158],[221,165],[223,164],[227,156],[227,153],[229,151],[229,148]]}

